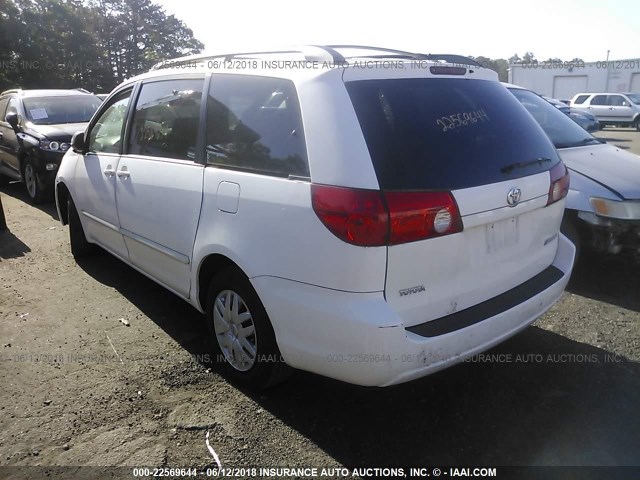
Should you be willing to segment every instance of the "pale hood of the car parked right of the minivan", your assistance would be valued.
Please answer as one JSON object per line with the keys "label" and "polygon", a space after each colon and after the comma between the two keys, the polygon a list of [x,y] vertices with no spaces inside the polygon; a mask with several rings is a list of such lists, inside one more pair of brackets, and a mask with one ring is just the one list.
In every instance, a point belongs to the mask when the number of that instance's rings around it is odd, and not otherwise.
{"label": "pale hood of the car parked right of the minivan", "polygon": [[558,150],[565,165],[614,190],[625,199],[640,199],[640,157],[613,145]]}

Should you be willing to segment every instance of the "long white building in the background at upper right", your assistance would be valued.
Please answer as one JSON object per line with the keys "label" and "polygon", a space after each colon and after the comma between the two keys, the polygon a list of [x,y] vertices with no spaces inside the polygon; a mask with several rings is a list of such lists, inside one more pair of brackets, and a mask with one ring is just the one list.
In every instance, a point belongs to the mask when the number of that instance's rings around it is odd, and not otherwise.
{"label": "long white building in the background at upper right", "polygon": [[640,58],[579,65],[513,63],[509,83],[561,100],[580,92],[640,92]]}

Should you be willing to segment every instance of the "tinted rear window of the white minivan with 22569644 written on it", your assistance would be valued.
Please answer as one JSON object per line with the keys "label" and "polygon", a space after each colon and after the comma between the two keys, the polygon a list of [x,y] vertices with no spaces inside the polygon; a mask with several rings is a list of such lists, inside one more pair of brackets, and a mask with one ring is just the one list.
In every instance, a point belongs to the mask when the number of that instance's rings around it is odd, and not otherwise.
{"label": "tinted rear window of the white minivan with 22569644 written on it", "polygon": [[382,189],[469,188],[559,161],[540,126],[498,82],[411,78],[346,87]]}

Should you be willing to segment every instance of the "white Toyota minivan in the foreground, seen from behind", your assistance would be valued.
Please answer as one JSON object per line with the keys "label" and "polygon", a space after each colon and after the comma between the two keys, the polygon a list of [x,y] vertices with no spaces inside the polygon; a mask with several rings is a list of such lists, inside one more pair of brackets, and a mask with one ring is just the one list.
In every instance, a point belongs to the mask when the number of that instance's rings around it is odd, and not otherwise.
{"label": "white Toyota minivan in the foreground, seen from behind", "polygon": [[[286,365],[391,385],[490,348],[567,284],[569,177],[495,72],[438,58],[316,46],[127,80],[58,172],[72,253],[206,312],[214,361],[258,388]],[[343,66],[363,61],[383,67]]]}

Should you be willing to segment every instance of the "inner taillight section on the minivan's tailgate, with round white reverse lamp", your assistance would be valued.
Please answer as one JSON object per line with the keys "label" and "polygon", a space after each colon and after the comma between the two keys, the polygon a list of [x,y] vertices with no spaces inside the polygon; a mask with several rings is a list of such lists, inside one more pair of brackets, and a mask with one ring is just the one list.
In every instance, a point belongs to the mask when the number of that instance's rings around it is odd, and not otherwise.
{"label": "inner taillight section on the minivan's tailgate, with round white reverse lamp", "polygon": [[449,192],[385,192],[391,234],[389,245],[462,231],[462,218]]}

